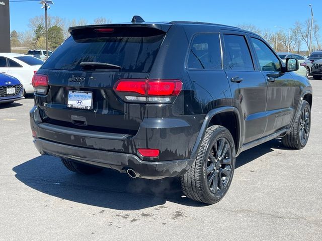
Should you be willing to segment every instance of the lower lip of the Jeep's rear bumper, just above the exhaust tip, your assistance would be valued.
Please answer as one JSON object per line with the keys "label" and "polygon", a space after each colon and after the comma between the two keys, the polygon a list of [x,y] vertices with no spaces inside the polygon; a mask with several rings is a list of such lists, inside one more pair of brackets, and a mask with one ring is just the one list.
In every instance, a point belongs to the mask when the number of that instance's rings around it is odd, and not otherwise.
{"label": "lower lip of the Jeep's rear bumper, just above the exhaust tip", "polygon": [[34,144],[43,155],[70,158],[94,166],[111,168],[121,173],[131,168],[138,177],[147,179],[182,176],[191,164],[190,159],[165,162],[142,161],[133,154],[67,146],[40,138],[35,139]]}

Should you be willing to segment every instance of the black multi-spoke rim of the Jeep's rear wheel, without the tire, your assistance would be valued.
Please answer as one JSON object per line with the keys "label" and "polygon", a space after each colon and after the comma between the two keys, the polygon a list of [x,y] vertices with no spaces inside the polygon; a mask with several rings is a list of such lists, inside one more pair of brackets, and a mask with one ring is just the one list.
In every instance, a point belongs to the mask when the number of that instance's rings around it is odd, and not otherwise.
{"label": "black multi-spoke rim of the Jeep's rear wheel, without the tire", "polygon": [[218,138],[211,147],[205,167],[205,177],[212,193],[222,191],[231,175],[231,146],[225,138]]}

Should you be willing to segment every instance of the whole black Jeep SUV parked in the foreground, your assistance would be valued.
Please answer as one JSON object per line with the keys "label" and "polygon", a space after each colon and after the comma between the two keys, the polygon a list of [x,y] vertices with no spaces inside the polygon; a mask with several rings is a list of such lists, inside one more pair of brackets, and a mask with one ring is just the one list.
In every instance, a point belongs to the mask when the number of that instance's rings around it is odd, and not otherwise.
{"label": "whole black Jeep SUV parked in the foreground", "polygon": [[310,83],[256,34],[138,16],[69,32],[33,77],[30,121],[38,151],[73,172],[180,176],[185,195],[215,203],[240,152],[307,143]]}

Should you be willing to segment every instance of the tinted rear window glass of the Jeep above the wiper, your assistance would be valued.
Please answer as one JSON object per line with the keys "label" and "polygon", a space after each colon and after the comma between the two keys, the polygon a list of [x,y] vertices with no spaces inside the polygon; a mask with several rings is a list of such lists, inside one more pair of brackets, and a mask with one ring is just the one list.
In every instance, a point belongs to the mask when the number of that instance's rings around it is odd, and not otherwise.
{"label": "tinted rear window glass of the Jeep above the wiper", "polygon": [[164,37],[165,34],[144,37],[71,36],[42,68],[82,70],[81,62],[101,62],[119,65],[123,72],[146,73],[150,71]]}

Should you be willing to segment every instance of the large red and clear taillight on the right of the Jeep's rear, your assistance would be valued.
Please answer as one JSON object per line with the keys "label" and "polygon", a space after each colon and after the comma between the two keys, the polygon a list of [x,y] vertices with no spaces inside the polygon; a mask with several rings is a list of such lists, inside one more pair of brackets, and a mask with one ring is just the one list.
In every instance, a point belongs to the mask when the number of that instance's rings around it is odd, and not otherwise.
{"label": "large red and clear taillight on the right of the Jeep's rear", "polygon": [[120,79],[114,91],[125,101],[167,103],[182,90],[178,79]]}

